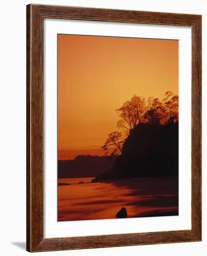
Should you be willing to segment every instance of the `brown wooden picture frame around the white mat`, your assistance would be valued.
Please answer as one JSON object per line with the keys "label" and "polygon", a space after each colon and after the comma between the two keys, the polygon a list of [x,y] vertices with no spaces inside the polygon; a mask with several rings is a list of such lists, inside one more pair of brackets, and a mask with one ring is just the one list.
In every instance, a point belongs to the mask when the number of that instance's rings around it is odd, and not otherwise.
{"label": "brown wooden picture frame around the white mat", "polygon": [[[93,20],[192,28],[191,226],[189,230],[100,236],[43,236],[43,20]],[[27,6],[27,251],[201,241],[201,15]]]}

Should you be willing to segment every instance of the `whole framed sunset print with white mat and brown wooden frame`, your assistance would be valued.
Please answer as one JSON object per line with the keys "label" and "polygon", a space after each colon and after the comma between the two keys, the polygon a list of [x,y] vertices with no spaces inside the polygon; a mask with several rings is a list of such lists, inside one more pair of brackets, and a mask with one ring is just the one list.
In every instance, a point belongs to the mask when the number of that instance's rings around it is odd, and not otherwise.
{"label": "whole framed sunset print with white mat and brown wooden frame", "polygon": [[27,6],[27,250],[201,241],[201,15]]}

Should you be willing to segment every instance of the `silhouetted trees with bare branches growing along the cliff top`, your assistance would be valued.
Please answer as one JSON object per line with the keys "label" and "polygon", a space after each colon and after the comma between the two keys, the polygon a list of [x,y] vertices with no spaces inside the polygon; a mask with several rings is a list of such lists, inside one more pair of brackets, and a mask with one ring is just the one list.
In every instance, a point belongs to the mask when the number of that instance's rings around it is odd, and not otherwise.
{"label": "silhouetted trees with bare branches growing along the cliff top", "polygon": [[105,154],[108,154],[110,146],[114,147],[111,155],[121,154],[130,131],[141,123],[164,126],[178,122],[178,101],[178,95],[170,91],[166,92],[162,101],[149,97],[146,102],[145,98],[134,94],[130,101],[126,101],[122,107],[115,110],[120,117],[117,127],[122,132],[116,131],[108,135],[107,141],[102,146]]}

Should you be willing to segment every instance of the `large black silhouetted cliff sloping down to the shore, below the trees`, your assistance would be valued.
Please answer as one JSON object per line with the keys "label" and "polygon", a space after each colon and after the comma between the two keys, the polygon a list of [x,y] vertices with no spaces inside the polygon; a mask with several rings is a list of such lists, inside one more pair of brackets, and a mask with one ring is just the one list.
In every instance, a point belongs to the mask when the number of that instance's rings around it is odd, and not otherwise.
{"label": "large black silhouetted cliff sloping down to the shore, below the trees", "polygon": [[178,175],[178,122],[139,124],[131,130],[114,166],[93,182]]}

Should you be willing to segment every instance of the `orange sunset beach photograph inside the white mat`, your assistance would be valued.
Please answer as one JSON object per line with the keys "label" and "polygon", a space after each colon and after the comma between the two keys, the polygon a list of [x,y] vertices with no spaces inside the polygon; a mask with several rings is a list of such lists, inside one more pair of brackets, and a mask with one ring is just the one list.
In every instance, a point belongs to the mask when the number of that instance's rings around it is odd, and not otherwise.
{"label": "orange sunset beach photograph inside the white mat", "polygon": [[58,34],[57,76],[57,221],[178,216],[179,40]]}

